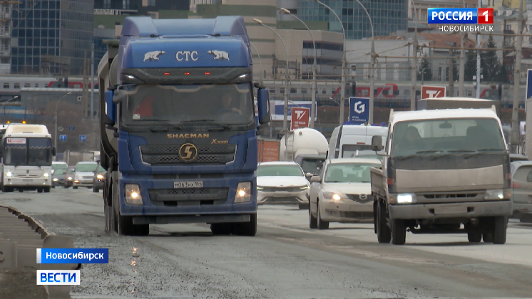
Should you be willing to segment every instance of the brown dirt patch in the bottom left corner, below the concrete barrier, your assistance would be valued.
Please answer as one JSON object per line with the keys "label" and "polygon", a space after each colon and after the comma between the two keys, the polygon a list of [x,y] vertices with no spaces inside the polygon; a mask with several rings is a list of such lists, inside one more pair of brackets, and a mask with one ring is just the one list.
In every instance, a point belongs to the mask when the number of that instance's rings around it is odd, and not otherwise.
{"label": "brown dirt patch in the bottom left corner, below the concrete barrier", "polygon": [[37,285],[32,267],[0,270],[0,299],[48,299],[44,285]]}

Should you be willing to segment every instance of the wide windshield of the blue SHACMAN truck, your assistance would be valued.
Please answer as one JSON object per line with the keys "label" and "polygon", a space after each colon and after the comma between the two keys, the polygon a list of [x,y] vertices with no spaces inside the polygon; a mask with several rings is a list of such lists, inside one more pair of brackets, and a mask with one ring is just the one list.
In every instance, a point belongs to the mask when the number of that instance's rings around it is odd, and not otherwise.
{"label": "wide windshield of the blue SHACMAN truck", "polygon": [[255,122],[249,83],[126,85],[125,91],[127,100],[122,109],[126,125]]}

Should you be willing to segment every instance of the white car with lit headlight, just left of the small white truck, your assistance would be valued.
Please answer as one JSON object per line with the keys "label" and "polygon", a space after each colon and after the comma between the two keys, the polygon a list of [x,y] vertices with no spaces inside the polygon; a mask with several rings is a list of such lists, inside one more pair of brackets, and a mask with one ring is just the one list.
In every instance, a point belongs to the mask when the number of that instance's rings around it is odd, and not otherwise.
{"label": "white car with lit headlight, just left of the small white truck", "polygon": [[329,222],[373,221],[370,168],[379,159],[328,159],[319,175],[310,179],[309,226],[329,229]]}

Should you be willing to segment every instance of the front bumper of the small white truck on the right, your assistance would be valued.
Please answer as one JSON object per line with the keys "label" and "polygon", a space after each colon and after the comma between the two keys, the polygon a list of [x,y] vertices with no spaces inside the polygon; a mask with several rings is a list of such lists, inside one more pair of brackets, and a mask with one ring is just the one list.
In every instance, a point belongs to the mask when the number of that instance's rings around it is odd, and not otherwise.
{"label": "front bumper of the small white truck on the right", "polygon": [[474,219],[484,216],[511,216],[512,202],[480,201],[455,204],[390,204],[390,219]]}

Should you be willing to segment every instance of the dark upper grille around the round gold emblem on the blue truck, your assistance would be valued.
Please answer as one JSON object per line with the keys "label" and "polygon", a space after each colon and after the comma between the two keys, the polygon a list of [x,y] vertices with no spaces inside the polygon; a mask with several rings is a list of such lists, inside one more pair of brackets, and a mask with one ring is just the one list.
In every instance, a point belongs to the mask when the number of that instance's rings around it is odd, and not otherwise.
{"label": "dark upper grille around the round gold emblem on the blue truck", "polygon": [[[147,164],[185,164],[173,145],[142,145],[140,154]],[[198,157],[191,164],[226,164],[235,160],[236,145],[198,145]]]}

